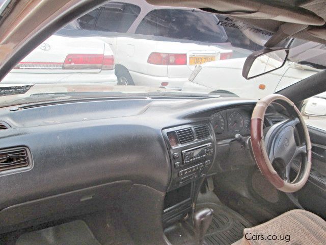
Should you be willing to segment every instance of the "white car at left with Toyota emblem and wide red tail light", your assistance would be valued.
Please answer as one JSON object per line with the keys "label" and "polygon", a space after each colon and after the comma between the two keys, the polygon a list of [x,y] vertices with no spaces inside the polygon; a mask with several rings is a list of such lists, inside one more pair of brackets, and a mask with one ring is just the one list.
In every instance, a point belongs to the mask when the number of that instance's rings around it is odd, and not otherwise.
{"label": "white car at left with Toyota emblem and wide red tail light", "polygon": [[52,35],[19,62],[0,85],[76,84],[90,81],[116,85],[114,68],[113,52],[105,42],[94,37]]}

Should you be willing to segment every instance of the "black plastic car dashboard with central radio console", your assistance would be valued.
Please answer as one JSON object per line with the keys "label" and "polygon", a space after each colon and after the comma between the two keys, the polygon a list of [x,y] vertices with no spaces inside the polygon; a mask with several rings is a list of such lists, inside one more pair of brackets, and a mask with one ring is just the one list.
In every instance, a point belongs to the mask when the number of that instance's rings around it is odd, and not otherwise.
{"label": "black plastic car dashboard with central radio console", "polygon": [[159,235],[191,212],[204,178],[254,164],[234,136],[249,139],[255,104],[138,97],[1,108],[0,155],[27,159],[0,168],[1,230],[119,203],[139,235],[136,215],[151,210]]}

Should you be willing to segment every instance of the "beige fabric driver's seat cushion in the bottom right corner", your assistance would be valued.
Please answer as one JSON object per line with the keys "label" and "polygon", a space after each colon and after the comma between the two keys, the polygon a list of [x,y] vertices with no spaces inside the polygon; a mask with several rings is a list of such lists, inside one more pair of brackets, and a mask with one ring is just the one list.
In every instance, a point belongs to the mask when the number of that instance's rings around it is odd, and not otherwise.
{"label": "beige fabric driver's seat cushion in the bottom right corner", "polygon": [[[274,239],[277,238],[276,240],[272,239],[273,235]],[[248,240],[246,237],[252,239]],[[244,229],[243,238],[233,243],[233,245],[248,244],[325,245],[326,222],[311,212],[300,209],[291,210],[259,226]]]}

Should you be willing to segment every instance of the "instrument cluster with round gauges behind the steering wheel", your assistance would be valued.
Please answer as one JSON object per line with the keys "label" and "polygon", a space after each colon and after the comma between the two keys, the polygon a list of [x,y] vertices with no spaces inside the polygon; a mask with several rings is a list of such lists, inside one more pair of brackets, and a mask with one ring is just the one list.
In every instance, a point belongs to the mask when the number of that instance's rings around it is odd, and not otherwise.
{"label": "instrument cluster with round gauges behind the steering wheel", "polygon": [[215,112],[210,116],[210,122],[216,137],[234,137],[250,135],[251,110],[228,109]]}

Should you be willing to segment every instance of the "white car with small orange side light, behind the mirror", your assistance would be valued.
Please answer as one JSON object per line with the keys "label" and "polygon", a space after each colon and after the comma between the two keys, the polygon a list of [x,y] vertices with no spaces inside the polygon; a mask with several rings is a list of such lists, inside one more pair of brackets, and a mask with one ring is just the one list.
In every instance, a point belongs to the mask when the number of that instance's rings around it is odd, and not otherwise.
{"label": "white car with small orange side light, behind the mirror", "polygon": [[[214,61],[198,65],[182,91],[230,92],[239,97],[260,99],[316,74],[319,69],[287,61],[280,69],[246,80],[242,68],[246,58]],[[223,91],[227,88],[227,91]]]}

